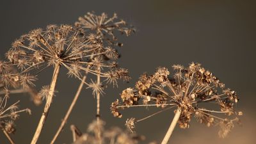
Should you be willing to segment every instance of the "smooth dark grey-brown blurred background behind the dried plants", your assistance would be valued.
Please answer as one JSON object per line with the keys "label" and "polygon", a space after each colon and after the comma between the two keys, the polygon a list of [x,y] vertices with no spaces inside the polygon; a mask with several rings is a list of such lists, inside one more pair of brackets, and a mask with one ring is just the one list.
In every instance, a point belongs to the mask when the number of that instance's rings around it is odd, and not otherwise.
{"label": "smooth dark grey-brown blurred background behind the dried plants", "polygon": [[[121,67],[131,73],[130,83],[118,84],[118,88],[109,86],[102,97],[102,119],[106,127],[124,128],[126,118],[143,118],[155,108],[135,108],[122,111],[123,118],[114,118],[109,105],[119,97],[124,88],[134,86],[143,72],[151,74],[156,67],[168,67],[173,64],[188,66],[195,61],[211,70],[215,76],[239,93],[237,109],[243,111],[243,126],[236,127],[225,139],[218,138],[218,127],[208,128],[191,122],[189,129],[177,127],[169,143],[255,143],[255,98],[256,77],[256,1],[193,1],[193,0],[145,0],[145,1],[85,1],[85,0],[2,0],[0,1],[0,57],[8,51],[12,42],[31,29],[45,28],[47,24],[74,24],[79,16],[86,12],[102,12],[111,16],[114,12],[137,29],[135,35],[121,36],[124,47],[119,52]],[[52,69],[41,73],[36,88],[51,82]],[[58,93],[54,97],[42,135],[38,143],[49,143],[57,131],[61,119],[66,113],[79,81],[67,78],[65,70],[58,79]],[[83,93],[68,119],[56,143],[71,143],[70,125],[75,124],[86,132],[87,125],[95,118],[95,99],[92,91],[83,89]],[[44,108],[35,106],[24,95],[12,95],[10,103],[20,99],[20,108],[30,108],[32,115],[22,113],[15,122],[17,131],[13,139],[17,143],[30,143],[37,122]],[[136,132],[146,136],[143,143],[160,142],[173,118],[173,110],[164,111],[136,125]],[[8,143],[0,134],[0,143]]]}

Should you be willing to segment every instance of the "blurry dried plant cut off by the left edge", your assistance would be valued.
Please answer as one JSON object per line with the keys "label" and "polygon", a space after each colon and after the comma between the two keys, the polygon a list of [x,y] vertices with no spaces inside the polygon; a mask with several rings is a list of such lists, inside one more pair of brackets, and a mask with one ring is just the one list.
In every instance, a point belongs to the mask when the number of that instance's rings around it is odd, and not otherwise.
{"label": "blurry dried plant cut off by the left edge", "polygon": [[[19,100],[13,104],[8,104],[10,94],[24,93],[32,90],[31,88],[26,89],[20,86],[20,83],[22,83],[20,77],[23,76],[17,74],[10,63],[0,61],[0,128],[10,143],[14,143],[9,134],[14,134],[15,132],[14,121],[19,118],[19,113],[27,112],[29,115],[31,114],[28,108],[19,110]],[[36,97],[34,94],[31,93],[32,97]],[[34,100],[34,102],[40,101]]]}

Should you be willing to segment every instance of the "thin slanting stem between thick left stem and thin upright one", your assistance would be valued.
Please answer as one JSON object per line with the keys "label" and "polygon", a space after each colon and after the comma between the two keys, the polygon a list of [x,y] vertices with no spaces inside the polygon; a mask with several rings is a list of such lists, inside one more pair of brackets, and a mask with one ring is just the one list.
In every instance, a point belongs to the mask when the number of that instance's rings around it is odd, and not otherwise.
{"label": "thin slanting stem between thick left stem and thin upright one", "polygon": [[75,95],[75,97],[74,97],[72,103],[70,104],[70,106],[69,106],[69,108],[68,108],[68,111],[67,111],[65,117],[63,118],[63,120],[62,120],[62,122],[61,122],[61,124],[60,124],[60,127],[59,127],[58,131],[57,131],[56,134],[54,135],[54,138],[52,139],[51,144],[53,144],[53,143],[56,141],[56,139],[57,139],[57,137],[59,136],[61,130],[62,130],[63,127],[64,127],[64,125],[67,123],[68,116],[70,115],[72,109],[74,108],[74,106],[75,106],[75,104],[76,104],[76,101],[77,101],[77,99],[78,99],[78,97],[79,97],[79,95],[80,95],[80,93],[81,93],[81,90],[82,90],[82,88],[83,88],[84,81],[85,81],[85,79],[86,79],[87,73],[88,73],[88,72],[86,72],[86,74],[83,76],[83,79],[82,79],[82,81],[81,81],[81,83],[80,83],[80,85],[79,85],[79,87],[78,87],[78,89],[77,89],[76,95]]}

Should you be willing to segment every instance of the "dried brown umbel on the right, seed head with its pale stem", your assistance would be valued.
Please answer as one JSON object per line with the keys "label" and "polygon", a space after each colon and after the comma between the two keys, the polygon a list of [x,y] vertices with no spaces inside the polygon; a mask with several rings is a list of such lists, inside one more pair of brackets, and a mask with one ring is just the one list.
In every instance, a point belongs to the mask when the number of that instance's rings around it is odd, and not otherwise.
{"label": "dried brown umbel on the right, seed head with its pale stem", "polygon": [[[243,115],[241,111],[234,110],[234,104],[239,100],[237,93],[225,88],[225,84],[199,63],[191,63],[188,68],[173,65],[173,69],[175,70],[173,77],[169,77],[170,72],[165,67],[157,68],[156,73],[151,76],[143,74],[135,84],[135,88],[127,88],[120,94],[121,103],[116,100],[111,104],[111,113],[122,117],[119,109],[156,106],[162,108],[161,111],[165,111],[176,107],[172,124],[162,144],[168,142],[177,123],[182,129],[189,128],[192,116],[207,127],[219,125],[219,136],[221,138],[227,136],[234,127],[234,122],[239,123],[238,116]],[[225,118],[220,114],[224,114]],[[133,132],[135,123],[141,120],[129,118],[125,126]]]}

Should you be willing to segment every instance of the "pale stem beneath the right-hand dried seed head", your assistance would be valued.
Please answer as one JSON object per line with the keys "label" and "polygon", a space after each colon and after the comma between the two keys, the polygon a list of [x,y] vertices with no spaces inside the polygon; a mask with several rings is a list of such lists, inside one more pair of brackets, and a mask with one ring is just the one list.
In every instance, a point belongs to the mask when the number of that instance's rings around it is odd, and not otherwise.
{"label": "pale stem beneath the right-hand dried seed head", "polygon": [[168,140],[170,139],[170,137],[172,135],[172,132],[173,132],[173,130],[174,130],[179,118],[180,118],[180,114],[181,114],[181,110],[180,110],[180,108],[177,108],[177,111],[176,111],[175,116],[172,120],[172,123],[171,123],[168,131],[166,132],[166,134],[164,136],[164,139],[163,139],[161,144],[166,144],[168,142]]}

